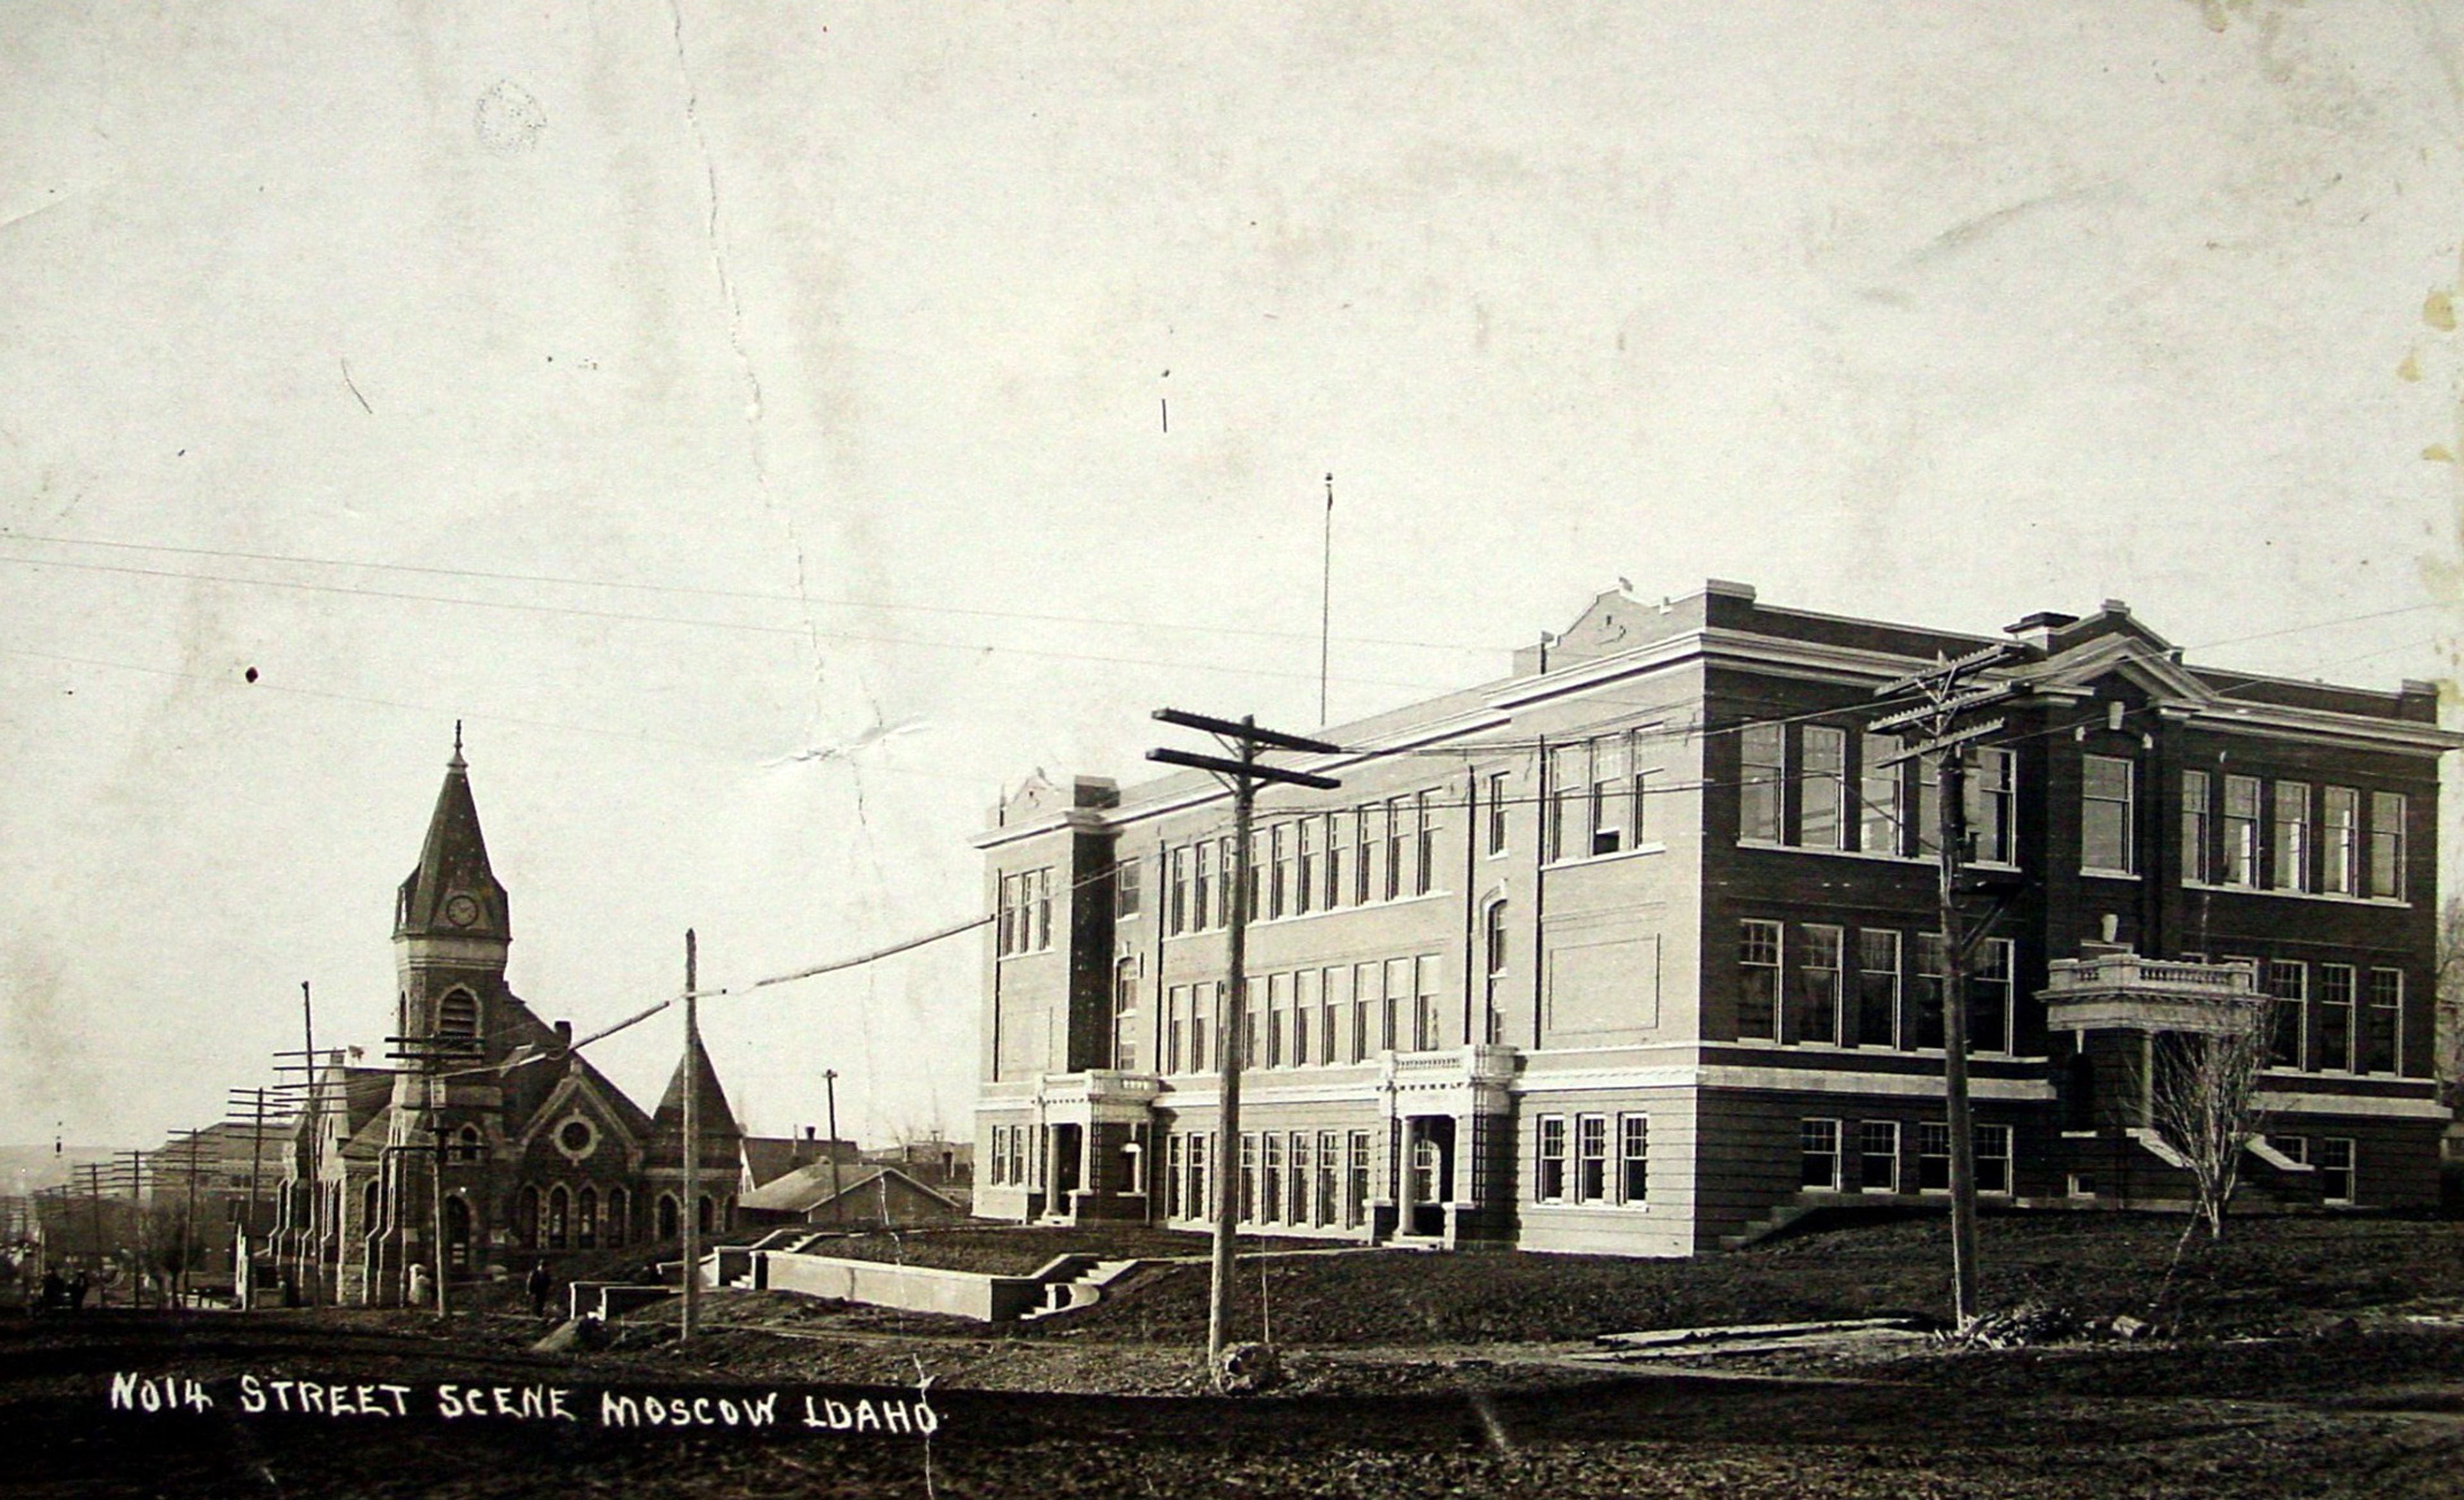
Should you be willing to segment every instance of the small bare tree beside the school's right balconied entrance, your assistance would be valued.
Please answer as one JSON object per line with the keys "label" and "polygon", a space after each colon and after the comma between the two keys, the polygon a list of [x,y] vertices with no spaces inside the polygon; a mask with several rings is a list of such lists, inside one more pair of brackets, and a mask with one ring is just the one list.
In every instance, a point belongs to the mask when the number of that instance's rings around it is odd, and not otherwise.
{"label": "small bare tree beside the school's right balconied entrance", "polygon": [[2259,1071],[2267,1067],[2269,1002],[2208,1000],[2198,1020],[2195,1030],[2154,1039],[2146,1079],[2149,1126],[2190,1175],[2190,1222],[2181,1244],[2200,1224],[2208,1239],[2225,1236],[2225,1209],[2242,1185],[2242,1150],[2264,1126]]}

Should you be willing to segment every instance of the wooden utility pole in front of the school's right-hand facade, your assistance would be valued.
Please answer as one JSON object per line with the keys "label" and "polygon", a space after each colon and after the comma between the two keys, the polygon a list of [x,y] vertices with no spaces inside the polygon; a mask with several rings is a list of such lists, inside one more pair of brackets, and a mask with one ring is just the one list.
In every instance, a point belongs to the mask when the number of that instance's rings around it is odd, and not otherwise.
{"label": "wooden utility pole in front of the school's right-hand facade", "polygon": [[1956,660],[1937,658],[1924,672],[1912,672],[1897,682],[1885,682],[1875,697],[1922,692],[1924,702],[1897,714],[1875,719],[1873,734],[1900,734],[1902,749],[1880,761],[1929,759],[1939,798],[1934,808],[1937,904],[1942,921],[1942,1108],[1951,1128],[1951,1315],[1959,1328],[1976,1320],[1976,1123],[1969,1108],[1969,953],[1984,941],[2001,916],[1993,914],[1966,929],[1959,909],[1961,867],[1969,857],[1969,805],[1966,805],[1966,756],[1969,746],[1988,734],[1998,734],[2003,719],[1961,724],[1971,709],[2001,702],[2016,685],[1974,687],[1969,675],[1979,672],[2008,653],[2006,645],[1971,650]]}

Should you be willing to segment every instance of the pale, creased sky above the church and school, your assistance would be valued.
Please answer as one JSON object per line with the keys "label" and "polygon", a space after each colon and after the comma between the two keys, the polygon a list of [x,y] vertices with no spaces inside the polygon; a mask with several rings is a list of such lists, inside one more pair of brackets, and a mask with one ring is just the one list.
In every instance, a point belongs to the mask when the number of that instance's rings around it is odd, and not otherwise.
{"label": "pale, creased sky above the church and school", "polygon": [[[1602,589],[2459,675],[2434,2],[0,7],[0,1140],[379,1052],[463,722],[579,1032],[978,914],[1173,704]],[[2449,692],[2449,700],[2454,695]],[[2454,714],[2449,714],[2454,722]],[[2464,842],[2464,840],[2454,840]],[[968,1131],[976,936],[727,995]],[[655,1099],[668,1017],[596,1049]]]}

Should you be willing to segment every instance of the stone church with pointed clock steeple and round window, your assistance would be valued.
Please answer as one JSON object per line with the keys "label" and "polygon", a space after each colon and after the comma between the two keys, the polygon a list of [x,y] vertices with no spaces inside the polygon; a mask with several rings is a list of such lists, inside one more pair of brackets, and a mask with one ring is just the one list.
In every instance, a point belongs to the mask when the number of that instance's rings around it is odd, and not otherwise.
{"label": "stone church with pointed clock steeple and round window", "polygon": [[[734,1217],[742,1131],[710,1054],[680,1057],[655,1111],[626,1099],[505,983],[513,904],[488,865],[461,727],[419,867],[394,897],[387,1067],[352,1047],[315,1069],[276,1259],[315,1300],[399,1305],[416,1281],[522,1276],[532,1261],[650,1246]],[[690,1074],[687,1074],[690,1069]],[[685,1079],[700,1094],[685,1207]]]}

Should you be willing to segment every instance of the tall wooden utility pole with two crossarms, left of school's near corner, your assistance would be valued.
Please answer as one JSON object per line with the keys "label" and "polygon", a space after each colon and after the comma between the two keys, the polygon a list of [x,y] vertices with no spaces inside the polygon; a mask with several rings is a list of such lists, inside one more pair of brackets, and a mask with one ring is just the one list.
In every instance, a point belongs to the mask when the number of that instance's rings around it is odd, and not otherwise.
{"label": "tall wooden utility pole with two crossarms, left of school's near corner", "polygon": [[1262,781],[1318,791],[1343,786],[1333,776],[1262,766],[1257,756],[1259,749],[1340,754],[1343,746],[1259,729],[1249,714],[1242,714],[1237,724],[1180,709],[1156,709],[1156,717],[1183,729],[1205,729],[1237,756],[1227,761],[1222,756],[1193,756],[1175,749],[1146,751],[1148,761],[1207,771],[1232,788],[1232,869],[1225,872],[1225,882],[1232,887],[1230,931],[1225,933],[1225,1012],[1215,1017],[1215,1039],[1222,1047],[1222,1099],[1215,1113],[1215,1264],[1207,1283],[1207,1369],[1215,1384],[1222,1387],[1225,1315],[1232,1300],[1232,1236],[1239,1232],[1239,1069],[1249,1034],[1249,980],[1244,973],[1249,961],[1249,815],[1257,808],[1257,786]]}

